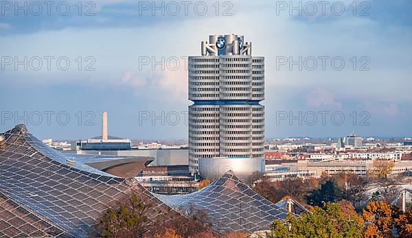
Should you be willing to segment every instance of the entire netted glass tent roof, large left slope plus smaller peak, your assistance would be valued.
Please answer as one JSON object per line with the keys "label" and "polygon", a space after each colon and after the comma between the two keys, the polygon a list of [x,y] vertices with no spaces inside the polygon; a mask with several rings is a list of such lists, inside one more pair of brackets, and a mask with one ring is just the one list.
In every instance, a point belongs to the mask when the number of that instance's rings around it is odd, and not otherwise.
{"label": "entire netted glass tent roof, large left slope plus smaller peak", "polygon": [[111,159],[119,158],[62,154],[23,125],[0,134],[0,237],[89,237],[106,209],[133,193],[152,204],[151,218],[192,204],[220,230],[252,233],[286,217],[231,172],[201,191],[165,196],[85,164]]}

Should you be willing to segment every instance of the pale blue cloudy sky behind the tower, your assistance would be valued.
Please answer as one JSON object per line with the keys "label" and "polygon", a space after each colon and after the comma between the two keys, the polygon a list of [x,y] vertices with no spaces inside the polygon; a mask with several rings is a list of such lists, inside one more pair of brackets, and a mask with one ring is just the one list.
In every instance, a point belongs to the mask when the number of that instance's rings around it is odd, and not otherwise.
{"label": "pale blue cloudy sky behind the tower", "polygon": [[[199,55],[201,40],[207,40],[209,34],[233,33],[253,43],[253,55],[265,57],[266,99],[262,104],[266,106],[266,137],[345,136],[354,131],[363,136],[412,134],[411,1],[357,1],[356,14],[353,1],[330,1],[324,16],[320,5],[316,14],[307,14],[312,12],[308,1],[293,1],[295,6],[306,4],[307,12],[304,9],[301,16],[296,10],[292,16],[288,9],[280,10],[282,1],[231,1],[226,5],[220,1],[218,16],[216,1],[204,1],[207,11],[203,16],[194,10],[196,4],[198,12],[202,10],[198,1],[190,2],[187,16],[179,1],[181,11],[174,16],[169,14],[174,12],[170,4],[162,16],[161,10],[152,14],[151,6],[143,10],[143,1],[123,0],[92,5],[83,1],[78,16],[78,1],[66,2],[71,6],[66,16],[56,10],[60,1],[52,5],[50,15],[43,5],[43,12],[35,16],[36,5],[32,5],[25,16],[23,10],[15,14],[14,6],[8,10],[9,5],[1,1],[2,64],[27,56],[32,67],[41,58],[43,67],[25,71],[23,65],[14,69],[14,62],[3,65],[0,131],[17,121],[27,123],[29,130],[42,139],[84,139],[100,134],[100,114],[106,110],[109,134],[113,136],[186,138],[185,111],[190,102],[185,60],[181,58]],[[341,2],[345,3],[345,12],[338,16]],[[164,2],[165,8],[168,3]],[[156,4],[161,6],[162,1]],[[336,5],[335,12],[332,4]],[[229,8],[231,15],[224,15]],[[61,9],[60,13],[64,12]],[[94,15],[85,16],[87,10]],[[47,56],[54,57],[50,70],[44,58]],[[305,67],[299,71],[296,65],[290,70],[288,64],[277,70],[277,59],[298,60],[299,56],[308,59],[308,65],[312,57],[318,64],[319,56],[339,57],[345,67],[337,71],[327,61],[324,71],[320,65],[313,71]],[[60,57],[70,62],[66,71],[56,66]],[[179,58],[181,66],[177,70],[170,69],[174,64],[168,64],[165,70],[159,66],[155,70],[150,66],[139,69],[142,57]],[[352,69],[354,57],[356,70]],[[89,64],[95,70],[85,71]],[[363,64],[370,70],[360,71]],[[142,121],[142,115],[161,116],[162,112],[164,125],[160,119],[154,125],[150,120]],[[288,117],[301,112],[301,125],[299,119],[280,119],[285,112]],[[324,123],[323,112],[328,112]],[[313,114],[317,115],[315,122]],[[56,115],[60,115],[60,121]],[[67,115],[70,120],[63,123]],[[177,123],[176,115],[180,119]],[[345,120],[339,123],[341,115]]]}

